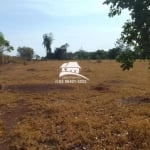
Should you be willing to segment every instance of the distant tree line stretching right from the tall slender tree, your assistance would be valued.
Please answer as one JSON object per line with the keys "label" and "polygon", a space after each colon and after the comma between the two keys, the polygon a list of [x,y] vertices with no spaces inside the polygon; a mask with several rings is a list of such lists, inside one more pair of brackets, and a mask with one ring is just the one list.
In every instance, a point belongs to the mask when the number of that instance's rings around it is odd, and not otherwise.
{"label": "distant tree line stretching right from the tall slender tree", "polygon": [[[122,60],[128,61],[128,59],[130,59],[130,61],[131,60],[135,61],[136,59],[145,59],[145,56],[142,53],[140,53],[138,50],[134,51],[133,47],[131,47],[129,44],[125,44],[123,40],[121,39],[118,39],[116,41],[116,44],[114,48],[112,49],[109,49],[109,50],[99,49],[99,50],[91,51],[91,52],[88,52],[83,49],[80,49],[76,52],[67,52],[67,48],[69,47],[68,43],[65,43],[64,45],[61,45],[60,47],[55,48],[54,52],[52,52],[52,49],[51,49],[52,42],[53,42],[52,33],[43,35],[43,45],[46,49],[46,56],[43,59],[56,59],[56,60],[116,59],[118,62],[121,62]],[[126,69],[129,69],[129,67]]]}

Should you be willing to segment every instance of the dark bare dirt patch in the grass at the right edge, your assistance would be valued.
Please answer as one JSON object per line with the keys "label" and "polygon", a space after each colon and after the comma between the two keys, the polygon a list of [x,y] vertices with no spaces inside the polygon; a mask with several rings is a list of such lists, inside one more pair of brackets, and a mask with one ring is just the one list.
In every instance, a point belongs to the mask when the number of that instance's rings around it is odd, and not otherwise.
{"label": "dark bare dirt patch in the grass at the right edge", "polygon": [[122,100],[122,104],[150,104],[150,97],[136,96],[128,97]]}

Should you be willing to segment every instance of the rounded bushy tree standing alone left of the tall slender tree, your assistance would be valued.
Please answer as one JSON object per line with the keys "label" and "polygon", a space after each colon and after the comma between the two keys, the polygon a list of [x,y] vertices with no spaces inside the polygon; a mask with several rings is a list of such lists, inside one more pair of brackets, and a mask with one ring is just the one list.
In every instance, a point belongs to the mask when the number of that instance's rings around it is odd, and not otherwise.
{"label": "rounded bushy tree standing alone left of the tall slender tree", "polygon": [[18,47],[19,56],[25,60],[31,60],[34,56],[34,50],[30,47]]}

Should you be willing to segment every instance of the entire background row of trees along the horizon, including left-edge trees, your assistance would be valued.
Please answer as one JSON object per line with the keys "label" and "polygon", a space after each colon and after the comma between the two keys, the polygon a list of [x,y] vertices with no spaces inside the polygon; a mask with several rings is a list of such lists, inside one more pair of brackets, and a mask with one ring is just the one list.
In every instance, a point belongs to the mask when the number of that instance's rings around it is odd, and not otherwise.
{"label": "entire background row of trees along the horizon, including left-edge trees", "polygon": [[[68,43],[65,43],[61,45],[60,47],[57,47],[54,49],[54,52],[52,52],[52,45],[53,42],[53,34],[43,34],[43,42],[41,42],[46,49],[46,56],[40,58],[39,55],[35,55],[35,51],[31,47],[23,46],[18,47],[17,52],[18,56],[22,58],[23,60],[30,61],[33,58],[36,60],[103,60],[103,59],[116,59],[117,61],[121,62],[122,60],[126,61],[128,59],[130,60],[136,60],[136,59],[144,59],[145,56],[140,53],[138,50],[133,51],[130,45],[125,44],[121,39],[118,39],[114,48],[109,50],[96,50],[96,51],[86,51],[84,49],[79,49],[76,52],[67,52],[67,49],[69,47]],[[3,53],[5,51],[10,52],[14,50],[13,46],[10,45],[9,41],[7,41],[3,34],[0,33],[0,62],[9,62],[10,59],[5,56],[2,57]],[[16,57],[18,59],[18,57]],[[12,61],[11,61],[12,62]],[[122,66],[123,68],[125,66]]]}

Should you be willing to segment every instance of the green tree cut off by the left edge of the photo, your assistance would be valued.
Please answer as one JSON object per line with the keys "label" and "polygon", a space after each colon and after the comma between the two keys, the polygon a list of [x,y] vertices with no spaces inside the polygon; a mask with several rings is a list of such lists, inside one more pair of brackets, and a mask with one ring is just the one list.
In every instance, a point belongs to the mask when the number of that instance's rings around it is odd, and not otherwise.
{"label": "green tree cut off by the left edge of the photo", "polygon": [[10,45],[9,41],[7,41],[0,32],[0,54],[2,55],[5,51],[10,52],[13,49],[14,48]]}

